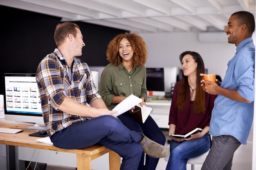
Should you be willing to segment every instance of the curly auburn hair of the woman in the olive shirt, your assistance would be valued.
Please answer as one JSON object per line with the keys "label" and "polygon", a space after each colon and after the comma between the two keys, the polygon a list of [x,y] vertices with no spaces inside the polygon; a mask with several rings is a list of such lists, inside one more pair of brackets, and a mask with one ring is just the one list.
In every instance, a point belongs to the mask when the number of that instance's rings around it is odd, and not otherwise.
{"label": "curly auburn hair of the woman in the olive shirt", "polygon": [[114,65],[119,65],[122,58],[119,55],[120,41],[126,38],[130,42],[133,50],[133,66],[138,67],[146,63],[148,57],[147,46],[144,40],[135,33],[119,34],[114,37],[108,44],[107,60]]}

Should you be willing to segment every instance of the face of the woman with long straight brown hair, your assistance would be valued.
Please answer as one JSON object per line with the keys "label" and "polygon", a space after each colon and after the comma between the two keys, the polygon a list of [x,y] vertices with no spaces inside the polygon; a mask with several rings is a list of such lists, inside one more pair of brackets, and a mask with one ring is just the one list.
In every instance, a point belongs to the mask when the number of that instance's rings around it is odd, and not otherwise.
{"label": "face of the woman with long straight brown hair", "polygon": [[184,55],[181,61],[181,66],[184,76],[195,75],[198,63],[195,62],[194,58],[190,54]]}

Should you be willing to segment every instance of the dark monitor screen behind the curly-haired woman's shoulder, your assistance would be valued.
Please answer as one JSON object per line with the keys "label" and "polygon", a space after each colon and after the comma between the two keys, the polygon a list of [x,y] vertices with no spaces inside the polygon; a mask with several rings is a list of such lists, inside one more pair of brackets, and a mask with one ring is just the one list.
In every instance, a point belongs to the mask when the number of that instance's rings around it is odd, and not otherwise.
{"label": "dark monitor screen behind the curly-haired woman's shoulder", "polygon": [[148,91],[164,92],[164,68],[146,68],[146,86]]}

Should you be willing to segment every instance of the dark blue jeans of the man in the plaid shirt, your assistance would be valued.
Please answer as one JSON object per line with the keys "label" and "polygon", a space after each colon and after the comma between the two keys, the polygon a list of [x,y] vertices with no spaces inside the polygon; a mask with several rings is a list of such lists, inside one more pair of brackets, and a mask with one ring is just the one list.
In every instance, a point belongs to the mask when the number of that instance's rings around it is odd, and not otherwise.
{"label": "dark blue jeans of the man in the plaid shirt", "polygon": [[106,146],[123,158],[120,170],[137,170],[143,152],[138,143],[141,135],[109,115],[75,122],[54,133],[51,140],[54,146],[64,149],[81,149],[94,144]]}

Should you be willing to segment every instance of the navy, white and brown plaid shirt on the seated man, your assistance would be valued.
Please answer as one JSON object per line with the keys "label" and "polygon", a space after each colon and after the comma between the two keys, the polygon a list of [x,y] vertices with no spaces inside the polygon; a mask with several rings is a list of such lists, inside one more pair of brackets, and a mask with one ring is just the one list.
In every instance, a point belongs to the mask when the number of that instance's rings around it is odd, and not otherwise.
{"label": "navy, white and brown plaid shirt on the seated man", "polygon": [[64,98],[72,98],[83,105],[101,98],[88,65],[76,57],[72,64],[73,73],[61,52],[55,49],[39,63],[36,71],[42,114],[50,136],[74,122],[90,119],[58,110]]}

